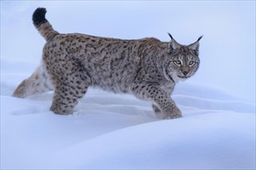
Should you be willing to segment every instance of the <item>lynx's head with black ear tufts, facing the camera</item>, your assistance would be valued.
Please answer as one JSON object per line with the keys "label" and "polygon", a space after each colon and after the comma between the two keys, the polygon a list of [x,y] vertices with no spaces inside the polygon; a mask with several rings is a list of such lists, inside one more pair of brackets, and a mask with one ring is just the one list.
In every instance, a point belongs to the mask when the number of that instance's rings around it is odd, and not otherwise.
{"label": "lynx's head with black ear tufts, facing the camera", "polygon": [[172,38],[168,43],[168,56],[164,59],[164,76],[168,80],[178,82],[193,76],[199,68],[199,40],[189,46],[179,44]]}

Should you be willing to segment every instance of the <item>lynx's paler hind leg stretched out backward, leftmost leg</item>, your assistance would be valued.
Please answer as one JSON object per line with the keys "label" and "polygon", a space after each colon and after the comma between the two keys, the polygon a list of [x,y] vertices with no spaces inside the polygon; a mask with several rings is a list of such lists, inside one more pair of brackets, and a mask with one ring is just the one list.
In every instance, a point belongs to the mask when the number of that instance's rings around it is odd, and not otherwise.
{"label": "lynx's paler hind leg stretched out backward, leftmost leg", "polygon": [[53,87],[50,83],[49,75],[46,73],[46,70],[43,69],[43,66],[40,65],[29,78],[19,83],[19,86],[16,87],[16,90],[12,93],[12,96],[24,98],[50,90],[53,90]]}

